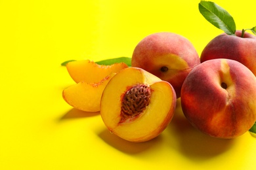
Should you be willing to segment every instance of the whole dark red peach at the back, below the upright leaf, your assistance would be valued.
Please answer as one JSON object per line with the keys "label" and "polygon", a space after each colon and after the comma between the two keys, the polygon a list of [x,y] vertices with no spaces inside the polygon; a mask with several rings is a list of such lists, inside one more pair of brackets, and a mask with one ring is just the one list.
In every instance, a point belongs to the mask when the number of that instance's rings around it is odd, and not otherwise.
{"label": "whole dark red peach at the back, below the upright leaf", "polygon": [[201,62],[209,59],[226,58],[239,61],[248,67],[256,76],[256,36],[236,31],[236,36],[222,33],[212,39],[203,49]]}

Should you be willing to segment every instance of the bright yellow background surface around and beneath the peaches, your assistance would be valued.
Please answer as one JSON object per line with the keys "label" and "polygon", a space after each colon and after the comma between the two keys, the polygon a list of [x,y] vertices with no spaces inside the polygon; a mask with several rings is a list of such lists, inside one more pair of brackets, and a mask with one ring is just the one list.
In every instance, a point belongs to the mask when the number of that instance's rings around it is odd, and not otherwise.
{"label": "bright yellow background surface around and beneath the peaches", "polygon": [[[222,33],[200,1],[0,0],[0,169],[255,169],[256,138],[213,139],[190,126],[178,105],[163,133],[129,143],[98,113],[72,109],[73,80],[62,61],[130,57],[146,35],[171,31],[198,54]],[[255,1],[215,1],[237,29],[255,26]],[[149,125],[150,126],[150,125]]]}

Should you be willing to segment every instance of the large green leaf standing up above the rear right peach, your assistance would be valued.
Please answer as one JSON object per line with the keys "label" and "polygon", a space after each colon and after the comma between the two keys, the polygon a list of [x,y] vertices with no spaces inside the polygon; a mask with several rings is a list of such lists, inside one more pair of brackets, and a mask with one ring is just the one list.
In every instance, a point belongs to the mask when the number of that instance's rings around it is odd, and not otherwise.
{"label": "large green leaf standing up above the rear right peach", "polygon": [[200,13],[208,22],[228,35],[235,35],[236,24],[226,10],[211,1],[201,1],[198,7]]}

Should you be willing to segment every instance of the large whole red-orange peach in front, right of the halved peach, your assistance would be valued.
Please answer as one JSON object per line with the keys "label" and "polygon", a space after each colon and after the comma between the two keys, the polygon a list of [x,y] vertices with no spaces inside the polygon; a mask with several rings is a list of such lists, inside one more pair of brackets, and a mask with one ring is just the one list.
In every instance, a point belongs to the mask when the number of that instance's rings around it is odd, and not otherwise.
{"label": "large whole red-orange peach in front, right of the halved peach", "polygon": [[224,139],[238,137],[256,121],[256,78],[238,61],[205,61],[186,77],[181,106],[200,131]]}

